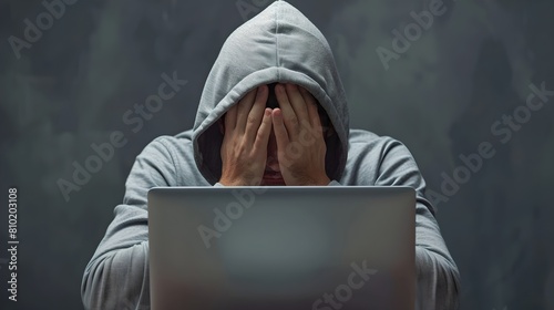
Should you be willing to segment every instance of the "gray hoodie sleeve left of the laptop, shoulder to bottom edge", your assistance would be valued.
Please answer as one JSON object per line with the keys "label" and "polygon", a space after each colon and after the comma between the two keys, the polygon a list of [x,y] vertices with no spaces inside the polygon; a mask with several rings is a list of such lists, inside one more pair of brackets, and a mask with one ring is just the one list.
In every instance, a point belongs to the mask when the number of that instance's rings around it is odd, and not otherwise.
{"label": "gray hoodie sleeve left of the laptop, shoulder to bottom edge", "polygon": [[85,309],[150,309],[147,192],[175,184],[175,166],[163,141],[156,138],[136,157],[123,204],[115,207],[115,217],[84,271]]}

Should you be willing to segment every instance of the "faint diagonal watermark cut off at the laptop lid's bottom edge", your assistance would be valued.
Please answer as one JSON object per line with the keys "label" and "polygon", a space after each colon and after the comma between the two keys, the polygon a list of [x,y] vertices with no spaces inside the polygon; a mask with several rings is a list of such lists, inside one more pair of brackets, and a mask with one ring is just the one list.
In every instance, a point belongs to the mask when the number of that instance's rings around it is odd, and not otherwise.
{"label": "faint diagonal watermark cut off at the laptop lid's bottom edge", "polygon": [[352,298],[356,290],[361,289],[370,280],[370,276],[377,273],[376,269],[368,268],[367,260],[361,262],[361,267],[356,262],[350,266],[353,271],[348,276],[346,283],[335,288],[331,293],[325,292],[314,302],[311,310],[341,309]]}

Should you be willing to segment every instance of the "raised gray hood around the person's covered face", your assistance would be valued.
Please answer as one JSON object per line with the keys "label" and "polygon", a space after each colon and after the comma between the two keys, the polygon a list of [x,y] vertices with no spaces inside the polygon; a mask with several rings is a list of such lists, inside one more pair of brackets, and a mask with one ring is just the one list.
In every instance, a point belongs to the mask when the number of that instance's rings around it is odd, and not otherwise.
{"label": "raised gray hood around the person's covered face", "polygon": [[326,170],[339,180],[346,166],[349,116],[335,59],[322,33],[296,8],[275,1],[225,41],[206,80],[193,127],[194,157],[211,184],[222,174],[217,121],[260,84],[294,83],[325,108],[336,135],[326,140]]}

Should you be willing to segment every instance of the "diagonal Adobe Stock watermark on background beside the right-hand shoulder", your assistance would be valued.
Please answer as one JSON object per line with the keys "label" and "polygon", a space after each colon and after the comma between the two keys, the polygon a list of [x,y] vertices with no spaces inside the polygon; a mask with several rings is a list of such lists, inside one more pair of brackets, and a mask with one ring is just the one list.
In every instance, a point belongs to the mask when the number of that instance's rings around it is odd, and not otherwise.
{"label": "diagonal Adobe Stock watermark on background beside the right-hand shoulder", "polygon": [[[492,135],[497,137],[501,144],[512,141],[514,134],[531,121],[533,113],[542,110],[548,103],[550,97],[554,96],[554,91],[546,90],[545,82],[542,82],[541,87],[537,87],[535,84],[531,84],[529,87],[531,93],[525,104],[515,107],[510,115],[502,115],[491,125]],[[460,190],[462,185],[470,182],[471,177],[483,168],[484,162],[493,158],[494,155],[496,155],[496,149],[489,141],[481,142],[475,153],[469,155],[460,154],[459,158],[462,164],[456,166],[451,174],[441,173],[442,183],[440,193],[429,189],[425,194],[427,198],[435,207],[440,203],[447,203]]]}

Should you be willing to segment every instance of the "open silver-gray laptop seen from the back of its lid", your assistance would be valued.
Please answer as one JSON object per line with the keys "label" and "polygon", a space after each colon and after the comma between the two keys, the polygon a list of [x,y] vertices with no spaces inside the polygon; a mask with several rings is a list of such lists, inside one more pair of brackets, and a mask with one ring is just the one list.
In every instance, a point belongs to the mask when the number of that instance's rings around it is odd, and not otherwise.
{"label": "open silver-gray laptop seen from the back of its lid", "polygon": [[154,310],[358,310],[416,304],[410,187],[156,187]]}

